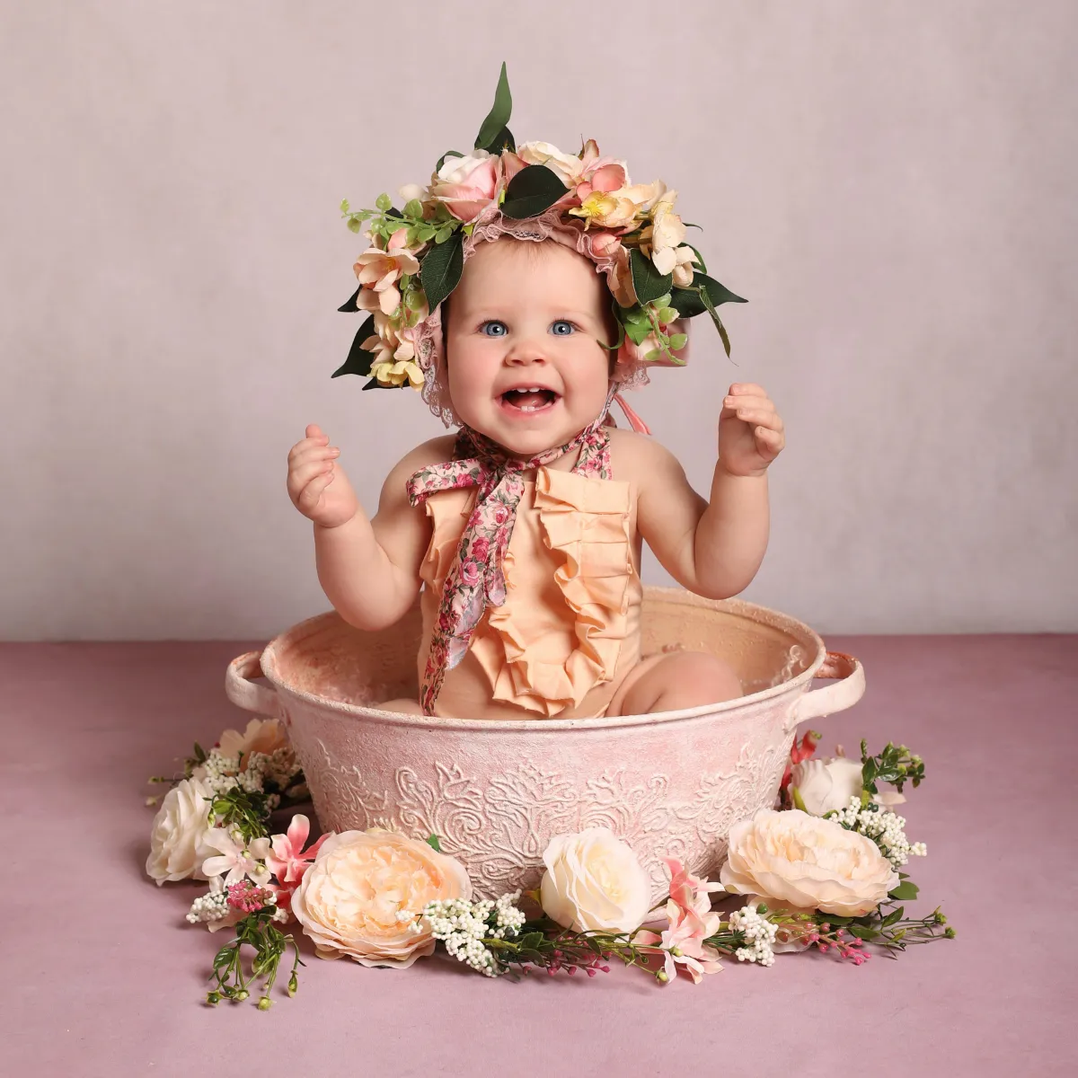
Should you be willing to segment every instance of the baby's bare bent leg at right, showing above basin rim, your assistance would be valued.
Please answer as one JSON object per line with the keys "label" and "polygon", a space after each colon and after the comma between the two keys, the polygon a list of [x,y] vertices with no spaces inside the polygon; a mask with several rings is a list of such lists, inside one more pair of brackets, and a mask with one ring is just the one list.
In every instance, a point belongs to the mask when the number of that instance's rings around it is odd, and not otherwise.
{"label": "baby's bare bent leg at right, showing above basin rim", "polygon": [[679,711],[744,694],[728,662],[702,651],[674,651],[655,655],[650,662],[645,660],[614,693],[606,714]]}

